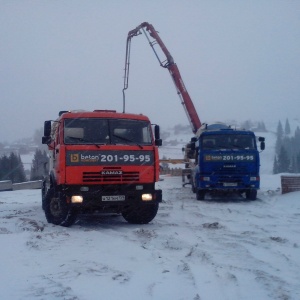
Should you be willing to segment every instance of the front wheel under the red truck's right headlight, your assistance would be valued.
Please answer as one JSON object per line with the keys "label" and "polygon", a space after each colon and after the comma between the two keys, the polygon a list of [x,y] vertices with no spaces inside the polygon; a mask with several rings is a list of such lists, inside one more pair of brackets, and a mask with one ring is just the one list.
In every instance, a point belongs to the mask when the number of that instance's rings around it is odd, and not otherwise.
{"label": "front wheel under the red truck's right headlight", "polygon": [[123,218],[131,224],[147,224],[151,222],[158,211],[158,203],[128,206],[122,211]]}

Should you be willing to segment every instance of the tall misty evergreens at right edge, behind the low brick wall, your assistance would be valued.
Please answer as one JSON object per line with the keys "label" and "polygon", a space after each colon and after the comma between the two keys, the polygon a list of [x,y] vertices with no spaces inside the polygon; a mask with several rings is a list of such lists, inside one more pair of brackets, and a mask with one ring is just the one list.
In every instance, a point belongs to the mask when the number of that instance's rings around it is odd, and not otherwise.
{"label": "tall misty evergreens at right edge, behind the low brick wall", "polygon": [[289,120],[277,125],[273,174],[300,173],[300,128],[292,133]]}

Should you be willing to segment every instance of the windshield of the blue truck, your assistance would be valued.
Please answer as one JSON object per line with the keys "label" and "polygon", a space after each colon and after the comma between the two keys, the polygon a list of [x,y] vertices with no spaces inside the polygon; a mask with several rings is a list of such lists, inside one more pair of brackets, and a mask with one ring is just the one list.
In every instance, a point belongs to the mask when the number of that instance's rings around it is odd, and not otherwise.
{"label": "windshield of the blue truck", "polygon": [[221,150],[221,149],[255,149],[255,140],[251,135],[207,135],[202,138],[203,150]]}

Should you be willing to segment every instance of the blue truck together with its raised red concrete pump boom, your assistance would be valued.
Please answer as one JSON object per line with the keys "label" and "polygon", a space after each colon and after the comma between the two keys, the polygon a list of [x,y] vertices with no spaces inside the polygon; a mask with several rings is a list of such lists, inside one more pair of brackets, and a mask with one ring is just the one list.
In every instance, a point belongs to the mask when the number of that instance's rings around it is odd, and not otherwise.
{"label": "blue truck together with its raised red concrete pump boom", "polygon": [[[204,200],[208,192],[217,191],[238,191],[245,193],[247,199],[255,200],[260,184],[257,142],[260,142],[260,149],[263,150],[264,138],[256,139],[252,131],[234,130],[225,124],[202,124],[174,58],[148,22],[141,23],[127,36],[123,102],[124,91],[128,88],[131,39],[142,33],[160,66],[168,69],[194,133],[192,141],[183,148],[186,167],[182,171],[183,185],[192,184],[198,200]],[[155,50],[156,45],[164,53],[164,59]],[[188,183],[185,183],[185,177]]]}

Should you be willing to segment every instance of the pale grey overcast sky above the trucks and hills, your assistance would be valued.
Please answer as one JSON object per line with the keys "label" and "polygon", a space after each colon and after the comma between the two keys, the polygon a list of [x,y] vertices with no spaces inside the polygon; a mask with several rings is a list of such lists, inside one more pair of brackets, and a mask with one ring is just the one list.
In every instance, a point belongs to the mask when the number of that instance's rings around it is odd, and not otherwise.
{"label": "pale grey overcast sky above the trucks and hills", "polygon": [[[127,33],[151,23],[202,122],[300,118],[298,0],[0,0],[0,142],[60,110],[122,111]],[[166,69],[132,39],[126,111],[188,124]]]}

